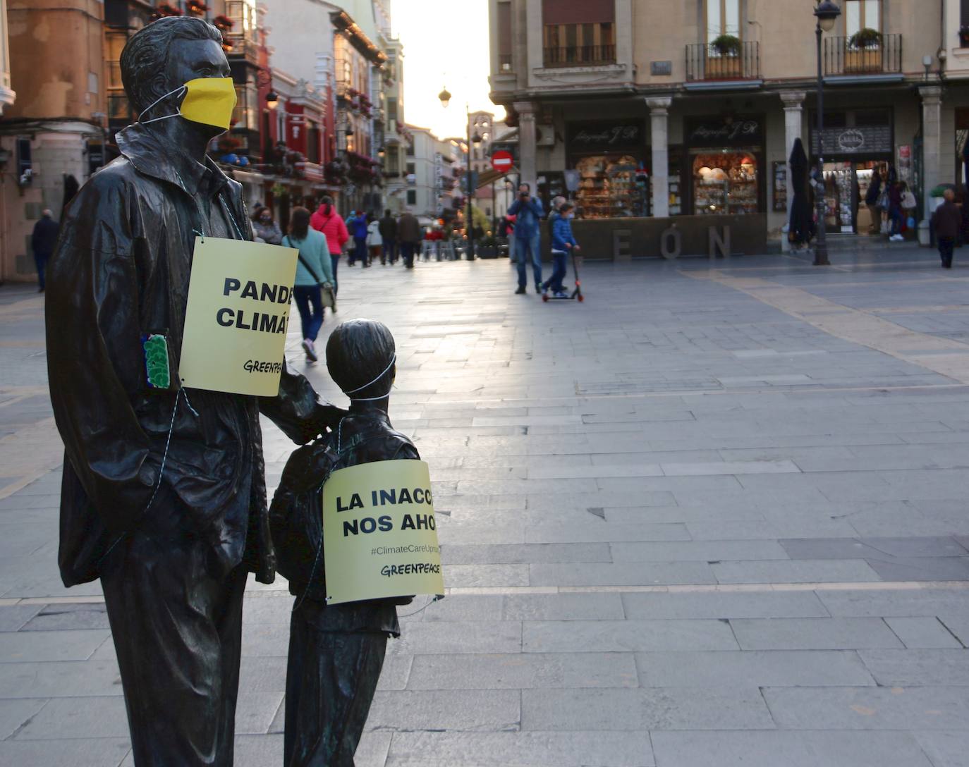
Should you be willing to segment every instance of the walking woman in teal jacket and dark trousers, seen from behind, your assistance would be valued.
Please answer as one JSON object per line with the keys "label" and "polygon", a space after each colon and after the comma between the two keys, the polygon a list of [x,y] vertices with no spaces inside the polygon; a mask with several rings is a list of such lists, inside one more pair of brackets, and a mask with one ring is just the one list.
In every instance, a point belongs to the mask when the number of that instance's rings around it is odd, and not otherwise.
{"label": "walking woman in teal jacket and dark trousers, seen from behind", "polygon": [[316,362],[316,337],[323,326],[322,286],[332,287],[333,266],[329,259],[327,237],[309,226],[309,211],[303,207],[293,210],[290,233],[283,237],[283,245],[299,250],[297,277],[293,297],[302,324],[303,351],[306,358]]}

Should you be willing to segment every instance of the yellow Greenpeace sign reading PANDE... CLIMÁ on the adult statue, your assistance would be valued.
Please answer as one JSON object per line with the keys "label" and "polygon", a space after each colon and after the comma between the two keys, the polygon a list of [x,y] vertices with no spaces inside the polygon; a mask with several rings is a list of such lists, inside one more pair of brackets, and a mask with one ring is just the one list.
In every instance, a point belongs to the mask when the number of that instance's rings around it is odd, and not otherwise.
{"label": "yellow Greenpeace sign reading PANDE... CLIM\u00c1 on the adult statue", "polygon": [[196,237],[178,375],[185,386],[275,396],[298,251]]}

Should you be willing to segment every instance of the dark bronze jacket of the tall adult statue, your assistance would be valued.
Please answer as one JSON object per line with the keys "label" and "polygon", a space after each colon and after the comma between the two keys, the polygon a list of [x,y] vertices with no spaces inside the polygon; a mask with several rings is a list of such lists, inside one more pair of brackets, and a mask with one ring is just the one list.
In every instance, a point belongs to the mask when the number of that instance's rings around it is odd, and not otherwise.
{"label": "dark bronze jacket of the tall adult statue", "polygon": [[[278,397],[189,389],[188,402],[176,399],[193,230],[240,239],[252,230],[240,185],[210,160],[201,165],[141,125],[117,143],[121,157],[68,206],[47,273],[50,400],[66,452],[61,578],[98,577],[108,548],[140,528],[202,539],[216,574],[244,563],[271,582],[259,414],[303,443],[328,409],[288,368]],[[172,389],[145,384],[148,332],[168,336]]]}

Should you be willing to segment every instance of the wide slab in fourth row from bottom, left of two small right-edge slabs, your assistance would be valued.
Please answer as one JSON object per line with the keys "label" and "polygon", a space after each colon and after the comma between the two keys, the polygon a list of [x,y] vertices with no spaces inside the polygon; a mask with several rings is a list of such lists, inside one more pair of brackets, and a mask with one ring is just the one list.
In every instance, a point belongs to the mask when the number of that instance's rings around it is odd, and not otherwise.
{"label": "wide slab in fourth row from bottom, left of two small right-edge slabs", "polygon": [[768,618],[730,622],[742,650],[857,650],[902,647],[880,618]]}

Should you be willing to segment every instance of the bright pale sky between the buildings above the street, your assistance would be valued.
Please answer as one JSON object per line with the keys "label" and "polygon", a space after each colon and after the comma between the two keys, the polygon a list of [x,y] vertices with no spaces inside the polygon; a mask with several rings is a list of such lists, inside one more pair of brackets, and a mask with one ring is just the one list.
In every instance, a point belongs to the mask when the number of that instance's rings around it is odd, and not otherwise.
{"label": "bright pale sky between the buildings above the street", "polygon": [[[488,99],[487,0],[392,0],[393,32],[404,44],[404,117],[438,137],[464,136],[464,103],[499,117]],[[447,85],[451,106],[437,95]]]}

